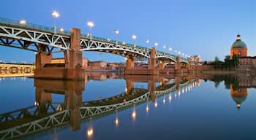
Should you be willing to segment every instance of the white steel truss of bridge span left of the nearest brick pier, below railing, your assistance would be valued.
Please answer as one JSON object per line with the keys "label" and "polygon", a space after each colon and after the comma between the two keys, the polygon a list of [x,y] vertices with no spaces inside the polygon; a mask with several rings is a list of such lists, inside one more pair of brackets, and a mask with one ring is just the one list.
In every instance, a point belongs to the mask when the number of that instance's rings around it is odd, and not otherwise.
{"label": "white steel truss of bridge span left of the nearest brick pier, below railing", "polygon": [[54,48],[69,50],[70,35],[53,34],[49,31],[29,28],[0,26],[0,45],[35,52],[45,52],[45,50],[39,49],[38,44],[45,44],[47,52],[53,52]]}

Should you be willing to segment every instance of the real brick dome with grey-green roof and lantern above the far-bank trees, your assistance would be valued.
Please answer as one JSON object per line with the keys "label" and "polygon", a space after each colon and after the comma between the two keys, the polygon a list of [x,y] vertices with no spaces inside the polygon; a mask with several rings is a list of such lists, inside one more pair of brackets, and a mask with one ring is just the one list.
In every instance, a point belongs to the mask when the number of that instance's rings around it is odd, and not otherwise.
{"label": "real brick dome with grey-green roof and lantern above the far-bank trees", "polygon": [[241,41],[241,37],[239,34],[236,36],[236,42],[232,44],[230,49],[230,57],[233,58],[234,55],[238,55],[240,57],[247,56],[246,44]]}

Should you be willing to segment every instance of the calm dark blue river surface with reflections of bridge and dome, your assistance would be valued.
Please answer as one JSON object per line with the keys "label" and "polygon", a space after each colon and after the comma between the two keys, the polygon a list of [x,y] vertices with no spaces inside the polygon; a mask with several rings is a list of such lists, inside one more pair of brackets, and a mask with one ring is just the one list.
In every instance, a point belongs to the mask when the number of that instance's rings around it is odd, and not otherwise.
{"label": "calm dark blue river surface with reflections of bridge and dome", "polygon": [[0,139],[256,139],[255,79],[0,78]]}

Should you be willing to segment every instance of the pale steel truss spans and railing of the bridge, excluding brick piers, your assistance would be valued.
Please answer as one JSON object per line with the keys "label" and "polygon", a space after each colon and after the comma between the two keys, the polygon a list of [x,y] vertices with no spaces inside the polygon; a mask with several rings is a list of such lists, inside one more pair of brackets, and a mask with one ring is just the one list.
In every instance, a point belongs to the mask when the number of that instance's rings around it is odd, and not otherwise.
{"label": "pale steel truss spans and railing of the bridge, excluding brick piers", "polygon": [[[55,28],[39,26],[32,23],[20,24],[18,20],[0,18],[0,45],[15,47],[34,52],[62,52],[69,50],[71,33],[69,31],[56,31]],[[44,44],[47,50],[41,50],[39,44]],[[132,58],[150,58],[150,49],[135,44],[117,42],[96,36],[81,35],[81,51],[110,52],[116,55]],[[155,58],[165,58],[176,62],[176,55],[157,51]],[[181,62],[189,64],[187,58]]]}

